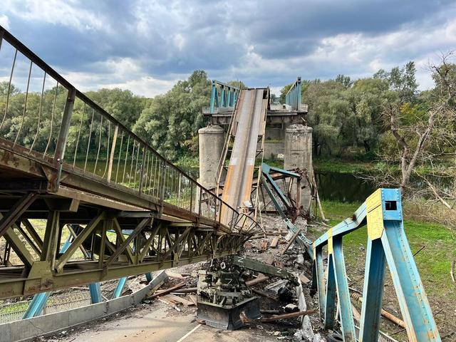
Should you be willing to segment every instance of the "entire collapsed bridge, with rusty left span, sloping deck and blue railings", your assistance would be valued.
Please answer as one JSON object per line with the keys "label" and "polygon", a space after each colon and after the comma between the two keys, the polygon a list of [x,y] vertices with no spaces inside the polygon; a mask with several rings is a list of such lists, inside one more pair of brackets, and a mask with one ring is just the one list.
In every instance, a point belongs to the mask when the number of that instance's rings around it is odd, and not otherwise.
{"label": "entire collapsed bridge, with rusty left span, sloping deck and blue railings", "polygon": [[[213,91],[212,120],[229,123],[229,130],[217,182],[208,190],[1,26],[0,62],[9,71],[0,94],[0,299],[237,254],[261,229],[252,188],[259,190],[261,177],[274,187],[269,169],[261,175],[265,126],[301,119],[300,79],[287,95],[292,110],[286,112],[271,110],[269,88],[227,87],[220,102]],[[14,91],[17,80],[24,93]],[[36,86],[38,92],[31,90]],[[297,148],[291,155],[302,153]],[[357,328],[342,237],[364,225],[368,258]],[[339,319],[343,341],[377,341],[386,264],[410,341],[440,341],[403,232],[398,190],[378,190],[351,219],[304,245],[321,320],[333,329]]]}

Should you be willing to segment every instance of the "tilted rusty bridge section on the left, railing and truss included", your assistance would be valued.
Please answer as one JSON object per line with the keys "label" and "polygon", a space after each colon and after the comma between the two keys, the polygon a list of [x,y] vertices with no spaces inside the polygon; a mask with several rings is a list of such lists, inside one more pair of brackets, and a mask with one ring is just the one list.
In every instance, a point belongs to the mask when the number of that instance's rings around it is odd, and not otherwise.
{"label": "tilted rusty bridge section on the left, railing and truss included", "polygon": [[[1,27],[0,43],[1,70],[9,70],[0,108],[0,298],[222,257],[254,234],[253,219],[172,165]],[[24,65],[28,72],[19,73]],[[17,93],[20,77],[26,86]]]}

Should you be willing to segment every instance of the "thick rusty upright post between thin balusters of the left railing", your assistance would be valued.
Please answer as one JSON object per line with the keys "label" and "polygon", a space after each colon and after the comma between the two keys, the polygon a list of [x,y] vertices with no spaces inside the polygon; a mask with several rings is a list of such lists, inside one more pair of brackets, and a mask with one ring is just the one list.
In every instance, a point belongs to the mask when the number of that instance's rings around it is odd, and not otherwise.
{"label": "thick rusty upright post between thin balusters of the left railing", "polygon": [[65,108],[63,109],[63,117],[58,133],[56,152],[54,155],[54,165],[57,168],[56,179],[53,183],[53,191],[58,190],[60,178],[62,174],[63,157],[65,156],[65,147],[68,140],[68,130],[70,129],[71,115],[73,113],[73,105],[76,99],[76,88],[68,89],[68,97],[66,98]]}

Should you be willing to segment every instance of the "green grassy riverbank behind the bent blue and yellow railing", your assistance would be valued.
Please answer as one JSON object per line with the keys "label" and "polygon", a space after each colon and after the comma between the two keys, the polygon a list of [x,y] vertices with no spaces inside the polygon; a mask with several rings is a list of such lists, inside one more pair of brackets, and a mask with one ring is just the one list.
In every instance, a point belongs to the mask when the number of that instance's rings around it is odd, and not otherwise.
{"label": "green grassy riverbank behind the bent blue and yellow railing", "polygon": [[[361,203],[342,203],[323,201],[322,207],[329,225],[350,217]],[[420,271],[421,280],[430,301],[440,333],[451,330],[456,325],[456,288],[450,279],[451,261],[456,259],[456,239],[452,232],[442,224],[424,222],[411,217],[408,206],[404,204],[404,229],[415,261]],[[309,229],[311,239],[321,234],[320,229]],[[343,252],[351,287],[362,291],[364,262],[366,259],[366,227],[356,230],[343,238]],[[383,306],[396,316],[400,316],[398,301],[389,272],[385,280],[385,299]],[[438,313],[438,314],[437,314]],[[453,328],[454,330],[454,328]],[[400,337],[400,335],[398,335]]]}

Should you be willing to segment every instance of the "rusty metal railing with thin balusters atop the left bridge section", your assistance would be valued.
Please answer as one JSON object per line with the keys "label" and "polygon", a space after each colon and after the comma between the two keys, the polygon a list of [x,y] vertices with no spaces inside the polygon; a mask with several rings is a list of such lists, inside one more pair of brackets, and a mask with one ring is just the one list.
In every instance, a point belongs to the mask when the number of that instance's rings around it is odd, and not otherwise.
{"label": "rusty metal railing with thin balusters atop the left bridge section", "polygon": [[[256,225],[162,157],[0,26],[0,146],[240,232]],[[226,87],[225,87],[226,88]],[[234,87],[225,89],[233,102]],[[231,94],[231,95],[229,95]]]}

